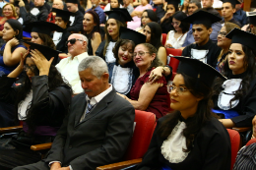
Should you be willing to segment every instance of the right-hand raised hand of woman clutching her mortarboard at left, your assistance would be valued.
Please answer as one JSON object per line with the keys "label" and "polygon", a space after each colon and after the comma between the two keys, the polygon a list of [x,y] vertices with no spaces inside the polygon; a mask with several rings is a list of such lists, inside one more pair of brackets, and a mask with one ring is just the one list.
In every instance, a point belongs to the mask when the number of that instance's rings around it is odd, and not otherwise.
{"label": "right-hand raised hand of woman clutching her mortarboard at left", "polygon": [[39,76],[49,74],[50,65],[54,59],[52,57],[49,61],[37,49],[31,50],[32,61],[39,70]]}

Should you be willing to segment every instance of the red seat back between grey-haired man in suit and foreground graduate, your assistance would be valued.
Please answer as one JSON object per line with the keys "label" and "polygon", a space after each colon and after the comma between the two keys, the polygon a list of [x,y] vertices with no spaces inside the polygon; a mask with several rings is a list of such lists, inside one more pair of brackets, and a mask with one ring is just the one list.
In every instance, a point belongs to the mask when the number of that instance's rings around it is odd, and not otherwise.
{"label": "red seat back between grey-haired man in suit and foreground graduate", "polygon": [[127,149],[125,160],[142,158],[148,150],[155,130],[156,116],[151,112],[135,110],[136,122],[133,138]]}

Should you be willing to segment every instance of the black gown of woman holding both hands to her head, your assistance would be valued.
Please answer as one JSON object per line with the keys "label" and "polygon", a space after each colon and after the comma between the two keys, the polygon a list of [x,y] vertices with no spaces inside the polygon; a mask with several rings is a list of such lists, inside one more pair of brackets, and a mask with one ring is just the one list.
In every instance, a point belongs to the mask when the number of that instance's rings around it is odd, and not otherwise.
{"label": "black gown of woman holding both hands to her head", "polygon": [[[0,101],[14,104],[17,91],[23,86],[11,87],[16,79],[3,76],[0,78]],[[67,85],[60,85],[49,91],[48,77],[32,78],[32,104],[38,107],[35,126],[58,129],[68,112],[72,90]],[[26,121],[25,121],[26,122]],[[39,152],[32,151],[32,144],[53,142],[53,136],[30,135],[22,130],[18,135],[0,140],[0,169],[12,169],[16,166],[34,163],[41,159]]]}

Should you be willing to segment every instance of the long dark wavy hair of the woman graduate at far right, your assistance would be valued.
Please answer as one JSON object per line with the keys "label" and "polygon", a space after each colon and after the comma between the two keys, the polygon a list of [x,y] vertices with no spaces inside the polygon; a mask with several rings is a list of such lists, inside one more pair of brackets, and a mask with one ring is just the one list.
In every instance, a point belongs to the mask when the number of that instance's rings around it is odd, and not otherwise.
{"label": "long dark wavy hair of the woman graduate at far right", "polygon": [[[256,69],[255,69],[255,57],[256,53],[249,47],[242,45],[242,50],[244,52],[244,58],[243,58],[243,67],[246,72],[245,77],[242,79],[242,82],[239,86],[239,89],[234,92],[234,97],[229,101],[230,107],[231,102],[243,98],[248,94],[248,90],[250,87],[250,82],[255,78]],[[228,54],[227,54],[228,55]],[[228,61],[226,60],[224,62],[224,76],[229,78],[232,75],[232,71],[228,67]],[[220,92],[223,90],[222,85],[224,84],[224,80],[217,78],[215,81],[215,84],[213,86],[214,88],[214,95],[219,95]]]}

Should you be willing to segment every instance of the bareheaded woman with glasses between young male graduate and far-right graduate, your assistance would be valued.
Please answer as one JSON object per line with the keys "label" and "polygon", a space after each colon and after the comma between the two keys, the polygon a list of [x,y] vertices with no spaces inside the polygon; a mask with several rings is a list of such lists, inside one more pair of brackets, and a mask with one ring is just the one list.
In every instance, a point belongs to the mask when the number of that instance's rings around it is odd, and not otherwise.
{"label": "bareheaded woman with glasses between young male graduate and far-right graduate", "polygon": [[216,70],[218,70],[221,73],[223,72],[223,69],[224,69],[225,57],[231,45],[231,39],[225,37],[225,35],[229,33],[229,31],[231,31],[233,28],[239,28],[239,26],[226,22],[224,23],[224,27],[219,31],[217,45],[223,49],[221,51],[221,54],[218,57]]}

